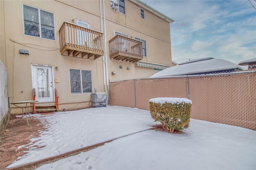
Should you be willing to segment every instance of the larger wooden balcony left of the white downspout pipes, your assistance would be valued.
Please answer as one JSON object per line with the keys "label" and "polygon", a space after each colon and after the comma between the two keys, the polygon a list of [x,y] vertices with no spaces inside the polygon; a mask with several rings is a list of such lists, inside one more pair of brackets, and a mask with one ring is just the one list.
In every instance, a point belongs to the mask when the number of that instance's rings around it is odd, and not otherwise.
{"label": "larger wooden balcony left of the white downspout pipes", "polygon": [[64,21],[59,34],[62,55],[94,59],[103,55],[103,33],[100,31]]}

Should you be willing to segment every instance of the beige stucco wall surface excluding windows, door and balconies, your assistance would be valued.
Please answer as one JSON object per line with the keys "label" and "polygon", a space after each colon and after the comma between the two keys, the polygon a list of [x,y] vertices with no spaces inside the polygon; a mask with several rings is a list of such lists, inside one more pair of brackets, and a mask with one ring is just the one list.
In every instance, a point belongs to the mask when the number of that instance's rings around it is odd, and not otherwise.
{"label": "beige stucco wall surface excluding windows, door and balconies", "polygon": [[[70,94],[69,68],[92,70],[93,92],[97,88],[97,92],[108,94],[104,86],[104,63],[101,58],[94,60],[68,57],[61,55],[59,50],[58,30],[63,21],[75,23],[77,19],[90,23],[91,29],[104,31],[101,29],[104,26],[104,20],[100,18],[100,2],[103,3],[99,0],[1,1],[1,60],[6,58],[10,102],[33,99],[32,64],[42,64],[53,68],[53,80],[54,78],[59,80],[59,82],[53,82],[53,86],[58,90],[60,106],[68,107],[68,104],[76,103],[86,106],[86,103],[90,101],[90,94]],[[106,53],[104,51],[104,54],[107,55],[105,63],[108,64],[108,79],[110,81],[147,78],[155,73],[153,68],[138,67],[135,63],[126,61],[110,60],[108,41],[114,37],[114,31],[146,40],[147,57],[144,57],[142,61],[172,65],[170,25],[167,21],[146,10],[144,10],[145,19],[140,18],[140,7],[130,1],[126,1],[126,15],[114,12],[110,8],[109,0],[104,2],[106,12]],[[22,4],[54,13],[55,40],[24,35]],[[2,22],[4,22],[4,26]],[[3,28],[5,29],[5,39],[2,35]],[[4,41],[5,47],[2,46]],[[20,54],[20,49],[28,50],[29,55]],[[120,65],[122,65],[122,69],[119,68]],[[58,70],[55,67],[58,67]],[[127,67],[130,70],[127,70]],[[116,72],[114,76],[112,71]],[[107,78],[105,84],[108,84]],[[10,107],[14,108],[12,105]],[[12,111],[16,112],[15,109],[11,109]],[[16,113],[18,112],[17,109]]]}

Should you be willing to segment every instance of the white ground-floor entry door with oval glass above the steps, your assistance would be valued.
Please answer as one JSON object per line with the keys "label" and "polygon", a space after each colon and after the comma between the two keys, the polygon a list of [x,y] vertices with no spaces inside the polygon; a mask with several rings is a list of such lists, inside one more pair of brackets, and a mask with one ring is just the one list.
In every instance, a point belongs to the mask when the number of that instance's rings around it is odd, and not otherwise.
{"label": "white ground-floor entry door with oval glass above the steps", "polygon": [[32,83],[38,102],[54,102],[52,66],[32,65]]}

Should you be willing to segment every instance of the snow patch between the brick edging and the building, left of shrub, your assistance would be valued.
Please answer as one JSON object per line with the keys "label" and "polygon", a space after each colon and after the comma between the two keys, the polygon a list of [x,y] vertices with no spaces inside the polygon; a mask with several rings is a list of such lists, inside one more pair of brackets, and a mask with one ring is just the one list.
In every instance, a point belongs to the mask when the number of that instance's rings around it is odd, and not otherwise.
{"label": "snow patch between the brick edging and the building, left of shrub", "polygon": [[31,150],[8,168],[144,131],[155,124],[149,111],[121,106],[37,115],[37,119],[47,122],[43,123],[47,130],[31,139],[35,142],[28,147],[44,147]]}

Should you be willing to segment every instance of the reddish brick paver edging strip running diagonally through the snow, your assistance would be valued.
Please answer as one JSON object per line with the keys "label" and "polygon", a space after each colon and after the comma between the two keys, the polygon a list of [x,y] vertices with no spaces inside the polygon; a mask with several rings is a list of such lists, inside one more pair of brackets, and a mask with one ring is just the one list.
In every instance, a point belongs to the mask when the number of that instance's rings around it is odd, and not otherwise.
{"label": "reddish brick paver edging strip running diagonally through the snow", "polygon": [[70,152],[66,152],[66,153],[63,153],[63,154],[59,154],[57,156],[52,156],[50,158],[45,158],[45,159],[38,160],[38,161],[35,161],[35,162],[31,162],[31,163],[28,163],[28,164],[23,164],[23,165],[16,166],[16,167],[11,167],[11,168],[4,168],[4,170],[24,170],[26,168],[30,168],[34,165],[42,164],[42,163],[47,162],[47,161],[51,161],[51,160],[54,160],[54,159],[66,158],[66,157],[69,157],[69,156],[72,156],[72,155],[79,154],[80,152],[82,152],[84,150],[88,151],[88,150],[94,149],[96,147],[100,147],[100,146],[104,145],[105,143],[109,143],[113,140],[115,140],[115,139],[105,141],[105,142],[102,142],[102,143],[98,143],[96,145],[91,145],[91,146],[88,146],[88,147],[84,147],[84,148],[81,148],[81,149],[72,150]]}

